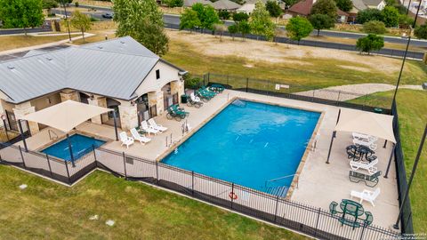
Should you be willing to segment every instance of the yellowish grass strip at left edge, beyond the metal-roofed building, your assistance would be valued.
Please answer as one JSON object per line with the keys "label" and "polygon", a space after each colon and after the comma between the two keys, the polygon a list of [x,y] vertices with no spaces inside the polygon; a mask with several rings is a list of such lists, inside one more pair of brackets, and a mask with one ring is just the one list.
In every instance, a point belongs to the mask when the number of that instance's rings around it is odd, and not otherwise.
{"label": "yellowish grass strip at left edge, beyond the metal-roofed building", "polygon": [[11,50],[20,47],[28,47],[39,44],[48,44],[68,39],[64,36],[0,36],[0,51]]}

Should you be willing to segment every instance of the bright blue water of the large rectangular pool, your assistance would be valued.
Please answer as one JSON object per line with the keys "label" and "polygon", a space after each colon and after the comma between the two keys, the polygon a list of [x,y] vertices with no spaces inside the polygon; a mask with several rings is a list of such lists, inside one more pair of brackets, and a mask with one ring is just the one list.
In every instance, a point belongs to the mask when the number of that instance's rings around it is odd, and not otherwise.
{"label": "bright blue water of the large rectangular pool", "polygon": [[[265,191],[265,182],[292,175],[319,113],[238,100],[163,159],[221,180]],[[291,178],[269,182],[290,186]]]}

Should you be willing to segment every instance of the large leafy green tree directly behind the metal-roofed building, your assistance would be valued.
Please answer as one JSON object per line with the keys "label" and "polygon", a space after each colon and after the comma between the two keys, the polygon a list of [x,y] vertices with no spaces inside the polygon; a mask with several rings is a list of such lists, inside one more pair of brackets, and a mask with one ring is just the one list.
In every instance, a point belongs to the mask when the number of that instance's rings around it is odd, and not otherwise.
{"label": "large leafy green tree directly behind the metal-roofed building", "polygon": [[167,52],[163,14],[155,0],[113,0],[113,11],[117,36],[132,36],[157,55]]}

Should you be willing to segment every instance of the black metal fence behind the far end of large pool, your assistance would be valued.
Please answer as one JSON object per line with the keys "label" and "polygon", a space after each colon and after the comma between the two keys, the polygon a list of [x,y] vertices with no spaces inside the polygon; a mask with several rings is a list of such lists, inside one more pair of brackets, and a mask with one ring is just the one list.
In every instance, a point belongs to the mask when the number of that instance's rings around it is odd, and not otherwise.
{"label": "black metal fence behind the far end of large pool", "polygon": [[[372,106],[373,103],[382,102],[383,106],[390,106],[391,99],[359,94],[354,92],[344,92],[331,89],[313,89],[310,86],[298,84],[283,84],[281,81],[263,80],[243,76],[221,75],[207,73],[203,76],[204,84],[222,84],[227,89],[242,92],[252,92],[274,97],[281,97],[292,100],[304,100],[321,104],[333,105],[343,108],[354,108],[366,111],[381,112],[391,114],[390,108]],[[357,103],[348,100],[358,100]]]}

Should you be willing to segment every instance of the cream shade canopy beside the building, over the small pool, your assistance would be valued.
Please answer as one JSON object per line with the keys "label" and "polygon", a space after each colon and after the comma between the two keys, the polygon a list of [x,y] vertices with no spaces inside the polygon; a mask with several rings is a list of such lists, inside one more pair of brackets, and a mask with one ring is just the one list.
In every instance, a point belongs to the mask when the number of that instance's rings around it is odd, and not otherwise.
{"label": "cream shade canopy beside the building, over the small pool", "polygon": [[48,125],[62,132],[69,132],[86,120],[112,110],[74,100],[66,100],[52,107],[22,116],[20,119]]}

